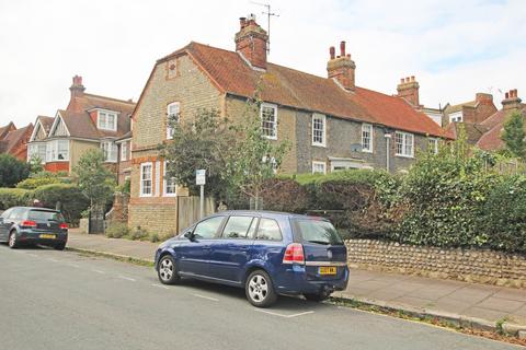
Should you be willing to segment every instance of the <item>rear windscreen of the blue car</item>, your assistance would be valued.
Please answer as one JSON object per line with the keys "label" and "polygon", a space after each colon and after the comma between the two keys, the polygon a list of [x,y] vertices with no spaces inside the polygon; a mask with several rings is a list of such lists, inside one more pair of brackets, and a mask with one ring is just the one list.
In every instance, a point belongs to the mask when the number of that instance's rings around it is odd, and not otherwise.
{"label": "rear windscreen of the blue car", "polygon": [[342,237],[329,221],[316,219],[293,219],[294,228],[304,242],[343,245]]}

